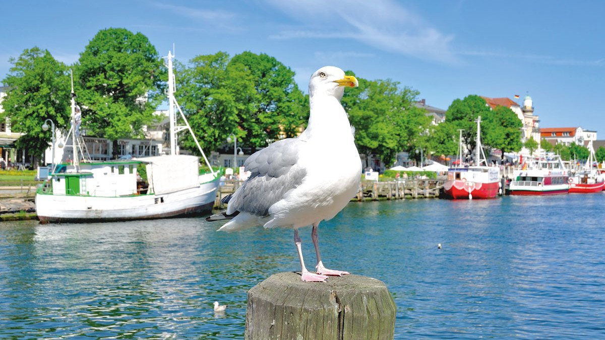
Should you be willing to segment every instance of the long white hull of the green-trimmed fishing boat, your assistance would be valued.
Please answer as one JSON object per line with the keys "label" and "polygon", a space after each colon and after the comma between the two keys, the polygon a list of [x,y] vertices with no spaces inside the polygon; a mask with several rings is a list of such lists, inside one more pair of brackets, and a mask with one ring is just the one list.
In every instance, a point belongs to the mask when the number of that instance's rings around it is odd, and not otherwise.
{"label": "long white hull of the green-trimmed fishing boat", "polygon": [[166,194],[124,197],[36,194],[36,213],[41,223],[113,222],[199,216],[214,206],[218,179],[200,187]]}

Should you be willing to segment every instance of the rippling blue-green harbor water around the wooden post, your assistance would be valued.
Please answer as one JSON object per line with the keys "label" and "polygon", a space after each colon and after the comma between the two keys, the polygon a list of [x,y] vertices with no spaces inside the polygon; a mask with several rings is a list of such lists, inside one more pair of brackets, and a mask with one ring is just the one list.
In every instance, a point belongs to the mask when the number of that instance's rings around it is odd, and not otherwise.
{"label": "rippling blue-green harbor water around the wooden post", "polygon": [[[354,203],[319,237],[328,268],[387,284],[396,338],[603,338],[604,202]],[[299,269],[292,231],[217,228],[0,223],[0,338],[241,338],[247,290]],[[312,268],[310,228],[301,235]]]}

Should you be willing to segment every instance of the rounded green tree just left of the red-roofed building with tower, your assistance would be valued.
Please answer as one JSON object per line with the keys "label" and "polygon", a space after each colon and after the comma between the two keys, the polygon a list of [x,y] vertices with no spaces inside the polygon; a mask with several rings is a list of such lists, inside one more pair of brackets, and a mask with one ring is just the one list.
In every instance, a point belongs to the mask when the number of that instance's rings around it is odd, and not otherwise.
{"label": "rounded green tree just left of the red-roofed building with tower", "polygon": [[511,109],[496,106],[486,115],[485,124],[482,124],[483,144],[502,150],[502,159],[504,159],[505,152],[521,150],[522,127],[523,123]]}

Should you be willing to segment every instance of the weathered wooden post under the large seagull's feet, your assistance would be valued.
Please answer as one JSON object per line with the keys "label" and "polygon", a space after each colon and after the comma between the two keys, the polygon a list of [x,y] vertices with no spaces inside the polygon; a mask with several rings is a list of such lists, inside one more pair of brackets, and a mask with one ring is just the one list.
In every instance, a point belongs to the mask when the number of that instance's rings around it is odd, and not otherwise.
{"label": "weathered wooden post under the large seagull's feet", "polygon": [[302,282],[271,275],[248,292],[245,339],[393,339],[396,306],[387,286],[359,275]]}

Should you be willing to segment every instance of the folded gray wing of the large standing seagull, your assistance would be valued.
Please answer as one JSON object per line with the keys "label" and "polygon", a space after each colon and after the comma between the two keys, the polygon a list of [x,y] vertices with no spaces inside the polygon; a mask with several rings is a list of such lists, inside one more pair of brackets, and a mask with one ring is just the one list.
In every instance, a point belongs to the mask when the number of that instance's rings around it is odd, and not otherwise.
{"label": "folded gray wing of the large standing seagull", "polygon": [[305,144],[298,138],[287,138],[246,159],[244,168],[251,172],[250,177],[229,200],[227,214],[245,211],[267,216],[269,207],[298,187],[307,175],[306,169],[297,164],[299,150]]}

